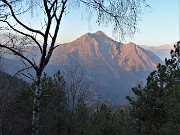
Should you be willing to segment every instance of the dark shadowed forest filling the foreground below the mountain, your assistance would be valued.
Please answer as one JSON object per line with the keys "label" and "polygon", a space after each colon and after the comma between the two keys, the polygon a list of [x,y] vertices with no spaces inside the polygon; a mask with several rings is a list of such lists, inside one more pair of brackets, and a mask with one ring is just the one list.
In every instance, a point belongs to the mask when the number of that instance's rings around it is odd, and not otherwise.
{"label": "dark shadowed forest filling the foreground below the mountain", "polygon": [[[134,96],[127,95],[129,105],[124,106],[92,100],[92,91],[86,91],[92,87],[80,71],[69,72],[69,79],[60,71],[53,77],[44,73],[39,134],[179,135],[179,48],[180,42],[171,51],[172,58],[150,73],[145,87],[132,89]],[[0,79],[1,135],[30,134],[34,84],[4,72]]]}

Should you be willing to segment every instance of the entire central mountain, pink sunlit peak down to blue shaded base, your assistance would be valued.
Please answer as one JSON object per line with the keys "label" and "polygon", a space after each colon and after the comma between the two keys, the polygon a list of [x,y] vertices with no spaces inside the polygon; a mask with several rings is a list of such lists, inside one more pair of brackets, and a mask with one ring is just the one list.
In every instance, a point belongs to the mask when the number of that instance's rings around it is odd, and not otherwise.
{"label": "entire central mountain, pink sunlit peak down to blue shaded base", "polygon": [[[27,55],[30,59],[39,57],[37,47],[28,46],[26,49],[30,51],[31,55]],[[131,94],[131,88],[137,83],[144,84],[148,74],[162,63],[153,52],[135,43],[114,41],[101,31],[86,33],[73,42],[60,44],[45,71],[53,75],[59,69],[63,71],[64,65],[71,61],[84,67],[86,77],[97,86],[97,94],[103,101],[117,104],[125,103],[125,96]],[[13,64],[13,70],[21,67],[19,62],[15,63],[18,65]],[[5,64],[12,68],[8,60]]]}

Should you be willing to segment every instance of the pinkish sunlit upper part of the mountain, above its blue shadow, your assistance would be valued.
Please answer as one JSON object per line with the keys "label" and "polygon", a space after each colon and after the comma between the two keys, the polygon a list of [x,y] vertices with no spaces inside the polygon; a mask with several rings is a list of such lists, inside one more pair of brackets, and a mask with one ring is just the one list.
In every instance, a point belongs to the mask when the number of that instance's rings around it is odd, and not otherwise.
{"label": "pinkish sunlit upper part of the mountain, above its blue shadow", "polygon": [[66,61],[69,56],[89,65],[104,64],[114,71],[148,71],[161,62],[152,52],[134,43],[116,42],[101,31],[87,33],[73,42],[60,45],[54,51],[51,62]]}

